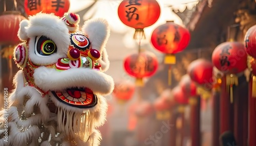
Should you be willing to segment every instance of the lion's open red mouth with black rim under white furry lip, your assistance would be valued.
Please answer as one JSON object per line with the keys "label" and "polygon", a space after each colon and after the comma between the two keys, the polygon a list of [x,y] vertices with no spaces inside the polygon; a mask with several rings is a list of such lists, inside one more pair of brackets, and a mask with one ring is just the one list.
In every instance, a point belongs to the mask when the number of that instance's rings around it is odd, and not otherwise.
{"label": "lion's open red mouth with black rim under white furry lip", "polygon": [[74,87],[52,93],[60,102],[73,107],[90,108],[97,104],[97,96],[89,88]]}

